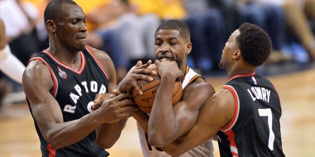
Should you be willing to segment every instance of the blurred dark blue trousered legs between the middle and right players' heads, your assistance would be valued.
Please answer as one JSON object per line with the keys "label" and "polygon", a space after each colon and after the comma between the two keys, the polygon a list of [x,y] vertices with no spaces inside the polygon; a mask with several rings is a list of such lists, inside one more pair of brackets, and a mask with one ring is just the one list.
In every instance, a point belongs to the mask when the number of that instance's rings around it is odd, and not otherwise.
{"label": "blurred dark blue trousered legs between the middle and right players' heads", "polygon": [[226,25],[222,12],[206,0],[183,0],[183,4],[187,11],[183,21],[191,29],[191,57],[196,68],[204,75],[219,70]]}

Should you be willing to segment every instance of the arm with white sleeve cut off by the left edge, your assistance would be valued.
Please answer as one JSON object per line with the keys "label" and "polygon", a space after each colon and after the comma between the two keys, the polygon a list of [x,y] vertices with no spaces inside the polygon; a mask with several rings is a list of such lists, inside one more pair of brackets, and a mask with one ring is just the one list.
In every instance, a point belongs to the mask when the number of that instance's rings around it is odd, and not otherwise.
{"label": "arm with white sleeve cut off by the left edge", "polygon": [[0,18],[0,70],[13,80],[22,83],[24,69],[24,64],[11,53],[9,44],[6,40],[5,25]]}

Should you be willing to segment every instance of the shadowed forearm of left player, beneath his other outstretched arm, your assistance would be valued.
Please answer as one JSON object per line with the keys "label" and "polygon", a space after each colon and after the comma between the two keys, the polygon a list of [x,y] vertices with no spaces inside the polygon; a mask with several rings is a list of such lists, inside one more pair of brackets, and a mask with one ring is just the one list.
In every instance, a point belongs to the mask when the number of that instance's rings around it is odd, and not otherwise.
{"label": "shadowed forearm of left player, beneath his other outstretched arm", "polygon": [[127,119],[121,119],[114,123],[102,123],[96,129],[96,143],[104,149],[112,147],[118,140]]}

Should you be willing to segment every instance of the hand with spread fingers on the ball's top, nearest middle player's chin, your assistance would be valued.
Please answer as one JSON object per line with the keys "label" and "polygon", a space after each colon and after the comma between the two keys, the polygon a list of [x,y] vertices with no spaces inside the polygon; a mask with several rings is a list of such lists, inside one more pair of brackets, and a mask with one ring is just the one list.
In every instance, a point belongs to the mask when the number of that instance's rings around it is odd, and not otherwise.
{"label": "hand with spread fingers on the ball's top, nearest middle player's chin", "polygon": [[117,89],[122,92],[126,93],[129,91],[131,93],[132,88],[135,88],[139,94],[142,94],[142,91],[140,90],[137,80],[143,79],[147,81],[154,80],[153,77],[150,77],[148,75],[155,75],[156,72],[150,69],[146,69],[151,64],[151,60],[147,61],[147,63],[142,64],[142,61],[138,61],[135,66],[133,66],[126,76],[119,82]]}

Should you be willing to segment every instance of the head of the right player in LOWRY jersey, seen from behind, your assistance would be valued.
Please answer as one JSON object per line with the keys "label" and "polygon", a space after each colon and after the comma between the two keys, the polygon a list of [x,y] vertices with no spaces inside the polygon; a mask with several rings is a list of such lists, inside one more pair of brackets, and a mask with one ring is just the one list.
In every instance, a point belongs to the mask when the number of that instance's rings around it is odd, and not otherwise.
{"label": "head of the right player in LOWRY jersey, seen from behind", "polygon": [[243,23],[225,43],[219,66],[228,68],[233,55],[240,53],[244,62],[257,67],[263,64],[271,52],[271,41],[268,34],[259,26]]}

